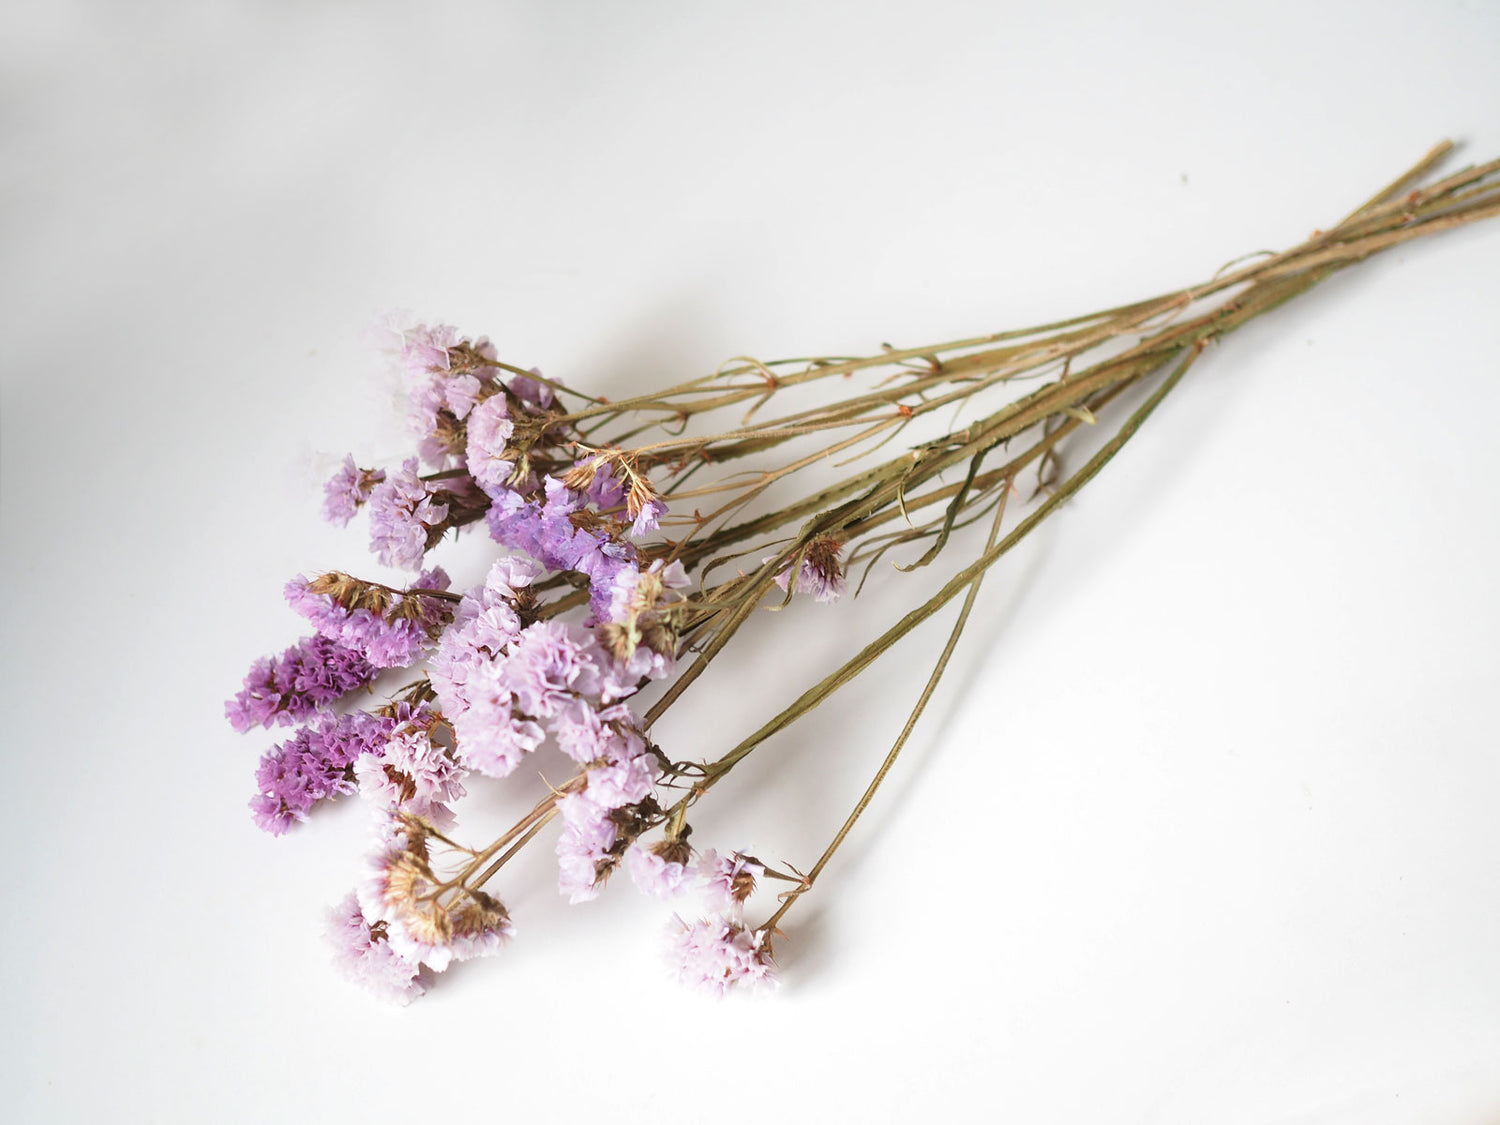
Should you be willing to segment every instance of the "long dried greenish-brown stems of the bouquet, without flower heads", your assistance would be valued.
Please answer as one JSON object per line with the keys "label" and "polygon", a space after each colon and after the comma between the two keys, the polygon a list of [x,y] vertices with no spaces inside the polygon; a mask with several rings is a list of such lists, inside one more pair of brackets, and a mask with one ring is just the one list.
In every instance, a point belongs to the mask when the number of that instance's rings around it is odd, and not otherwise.
{"label": "long dried greenish-brown stems of the bouquet, without flower heads", "polygon": [[[1257,261],[1216,274],[1196,286],[1161,294],[1146,302],[1106,309],[1086,316],[1054,321],[1032,328],[993,333],[988,336],[952,340],[948,344],[886,350],[878,356],[861,358],[813,358],[780,360],[760,363],[747,360],[716,375],[694,380],[666,392],[636,396],[616,404],[594,404],[570,416],[570,420],[594,423],[592,441],[600,441],[608,424],[640,412],[651,411],[668,416],[664,424],[687,424],[690,420],[732,406],[753,404],[759,411],[768,400],[784,392],[855,372],[896,369],[890,386],[843,399],[832,405],[804,408],[774,420],[742,424],[702,436],[668,436],[654,442],[618,448],[621,459],[639,465],[660,465],[684,478],[702,464],[720,464],[741,459],[753,453],[765,453],[795,438],[810,434],[825,434],[861,426],[852,440],[840,441],[806,458],[789,462],[780,470],[756,474],[748,483],[724,482],[700,488],[682,495],[700,496],[726,492],[730,500],[708,518],[702,518],[694,534],[672,544],[670,555],[688,567],[714,566],[746,554],[735,550],[738,544],[750,543],[801,520],[801,530],[770,561],[744,579],[723,584],[705,591],[702,603],[716,606],[706,618],[694,622],[698,658],[674,681],[668,692],[648,711],[646,722],[656,723],[676,704],[692,682],[706,670],[708,664],[724,650],[738,628],[760,604],[771,578],[794,558],[798,550],[820,536],[832,536],[846,543],[868,537],[878,528],[892,520],[910,520],[910,513],[924,507],[950,501],[944,516],[898,534],[896,543],[910,543],[921,538],[934,540],[933,549],[918,564],[930,562],[946,543],[950,531],[963,513],[993,502],[996,490],[1010,489],[1018,472],[1046,464],[1056,450],[1071,438],[1080,426],[1094,424],[1106,414],[1128,387],[1142,382],[1170,364],[1170,374],[1155,388],[1150,398],[1131,414],[1104,447],[1083,468],[1066,478],[1050,496],[1034,510],[1008,536],[994,542],[999,518],[1004,514],[1004,500],[996,506],[996,524],[986,550],[960,570],[938,594],[912,609],[896,626],[867,645],[819,684],[804,692],[795,702],[764,723],[720,758],[705,762],[700,780],[681,798],[668,816],[681,818],[688,806],[756,747],[772,735],[784,730],[796,718],[807,714],[838,687],[852,681],[876,658],[896,645],[912,628],[936,614],[960,591],[968,591],[958,622],[939,657],[933,676],[922,692],[906,728],[896,741],[886,760],[876,772],[870,788],[861,796],[848,822],[834,837],[824,856],[812,868],[802,886],[786,898],[766,927],[774,927],[795,898],[802,894],[828,858],[848,836],[854,820],[864,812],[874,790],[885,778],[896,754],[904,746],[916,718],[926,708],[938,678],[946,668],[957,638],[968,621],[969,609],[976,597],[984,573],[1002,555],[1030,534],[1047,516],[1082,489],[1136,434],[1152,410],[1178,386],[1208,344],[1222,338],[1251,320],[1278,308],[1305,292],[1332,273],[1347,268],[1366,256],[1389,249],[1410,238],[1436,234],[1467,222],[1500,214],[1500,186],[1491,177],[1500,171],[1500,160],[1466,168],[1420,190],[1402,192],[1425,176],[1452,148],[1444,141],[1434,147],[1413,168],[1400,176],[1384,189],[1371,196],[1336,226],[1314,232],[1306,242],[1281,254],[1268,254]],[[1474,186],[1480,184],[1480,186]],[[1238,290],[1233,296],[1230,291]],[[1204,302],[1222,297],[1212,308]],[[1152,328],[1154,321],[1160,327]],[[1090,351],[1131,342],[1118,354],[1100,358],[1096,363],[1071,370],[1077,360]],[[1000,345],[1000,346],[996,346]],[[915,418],[936,410],[976,398],[981,392],[1020,376],[1038,372],[1050,364],[1064,364],[1062,374],[975,423],[927,441],[902,453],[879,466],[854,472],[801,501],[774,512],[766,512],[740,524],[724,525],[708,534],[699,528],[710,522],[722,522],[724,516],[738,512],[774,483],[801,471],[831,453],[840,453],[852,444],[867,441],[886,430],[904,429]],[[914,366],[916,369],[914,370]],[[754,381],[752,381],[754,380]],[[904,405],[903,405],[904,404]],[[1016,436],[1036,430],[1038,436],[1004,465],[976,472],[980,459],[998,446]],[[608,446],[604,446],[608,447]],[[934,484],[954,466],[970,465],[962,483]],[[922,486],[930,486],[922,490]],[[674,495],[669,484],[663,489]],[[724,554],[729,552],[729,554]],[[873,562],[873,560],[872,560]],[[705,566],[706,564],[706,566]],[[704,634],[708,634],[706,639]]]}

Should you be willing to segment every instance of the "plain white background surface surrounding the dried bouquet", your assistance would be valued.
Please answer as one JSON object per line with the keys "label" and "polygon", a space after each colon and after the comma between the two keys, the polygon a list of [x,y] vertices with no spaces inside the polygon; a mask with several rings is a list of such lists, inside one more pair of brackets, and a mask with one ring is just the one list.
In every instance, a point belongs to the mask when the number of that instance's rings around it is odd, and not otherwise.
{"label": "plain white background surface surrounding the dried bouquet", "polygon": [[[222,700],[364,556],[316,484],[400,454],[380,314],[612,394],[1078,314],[1496,156],[1497,57],[1460,0],[9,4],[0,1116],[1496,1120],[1500,224],[1227,339],[998,572],[770,999],[542,843],[514,945],[380,1006],[318,934],[363,810],[258,832]],[[900,580],[658,738],[722,752]],[[694,842],[808,864],[942,630]]]}

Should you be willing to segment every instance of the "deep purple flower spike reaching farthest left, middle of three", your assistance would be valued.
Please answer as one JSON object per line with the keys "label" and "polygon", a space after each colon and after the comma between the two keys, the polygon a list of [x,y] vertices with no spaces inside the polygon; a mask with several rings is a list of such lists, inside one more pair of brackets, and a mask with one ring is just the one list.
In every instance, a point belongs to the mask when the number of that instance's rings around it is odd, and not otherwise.
{"label": "deep purple flower spike reaching farthest left, middle of three", "polygon": [[279,657],[256,660],[244,687],[224,705],[230,726],[290,726],[375,678],[375,666],[326,636],[298,640]]}

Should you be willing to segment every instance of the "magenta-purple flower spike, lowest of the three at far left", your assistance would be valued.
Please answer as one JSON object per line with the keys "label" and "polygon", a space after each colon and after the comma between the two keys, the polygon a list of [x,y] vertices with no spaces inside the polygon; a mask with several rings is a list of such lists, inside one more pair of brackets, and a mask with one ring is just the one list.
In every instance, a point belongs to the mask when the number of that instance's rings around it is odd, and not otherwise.
{"label": "magenta-purple flower spike, lowest of the three at far left", "polygon": [[274,746],[255,771],[256,795],[250,801],[255,824],[280,836],[309,810],[334,794],[352,794],[354,764],[376,758],[394,723],[366,711],[318,716],[297,734]]}

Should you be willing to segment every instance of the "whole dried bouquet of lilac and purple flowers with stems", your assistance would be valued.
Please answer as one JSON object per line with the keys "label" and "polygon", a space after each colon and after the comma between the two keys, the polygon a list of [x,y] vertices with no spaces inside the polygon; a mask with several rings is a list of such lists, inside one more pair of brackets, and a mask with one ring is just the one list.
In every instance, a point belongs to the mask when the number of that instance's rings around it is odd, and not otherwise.
{"label": "whole dried bouquet of lilac and purple flowers with stems", "polygon": [[[624,868],[646,894],[693,903],[670,921],[684,981],[718,993],[772,981],[782,922],[886,777],[987,570],[1131,440],[1209,344],[1378,250],[1500,214],[1500,162],[1420,183],[1449,148],[1300,246],[1202,285],[934,346],[736,360],[622,402],[448,327],[396,333],[417,456],[386,470],[345,459],[326,514],[346,524],[366,508],[376,560],[418,573],[292,579],[286,600],[315,632],[256,662],[226,705],[238,730],[297,726],[256,771],[264,830],[285,832],[339,794],[378,810],[364,878],[332,920],[339,963],[405,1002],[454,958],[494,952],[512,934],[495,876],[556,822],[572,902]],[[960,408],[970,420],[954,429]],[[873,456],[900,438],[894,456]],[[927,567],[970,543],[970,524],[982,538],[936,592],[758,730],[702,759],[656,741],[758,609],[836,602],[886,556]],[[470,525],[501,554],[456,592],[428,555]],[[694,808],[726,774],[956,600],[906,724],[806,872],[690,843]],[[386,669],[412,670],[362,710]],[[453,810],[470,778],[502,778],[548,744],[572,777],[496,838],[460,843]],[[764,885],[780,892],[774,909],[759,906]]]}

